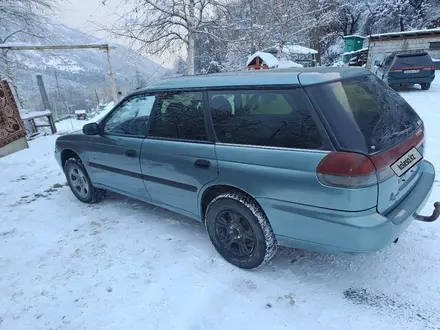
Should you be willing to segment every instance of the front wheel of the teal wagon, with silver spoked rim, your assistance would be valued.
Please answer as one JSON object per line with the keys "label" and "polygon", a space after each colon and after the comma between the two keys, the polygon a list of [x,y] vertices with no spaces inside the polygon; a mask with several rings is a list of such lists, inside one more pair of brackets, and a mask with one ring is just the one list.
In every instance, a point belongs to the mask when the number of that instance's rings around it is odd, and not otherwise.
{"label": "front wheel of the teal wagon, with silver spoked rim", "polygon": [[83,203],[97,203],[105,197],[105,190],[95,188],[83,163],[78,158],[69,158],[64,164],[67,183],[73,194]]}

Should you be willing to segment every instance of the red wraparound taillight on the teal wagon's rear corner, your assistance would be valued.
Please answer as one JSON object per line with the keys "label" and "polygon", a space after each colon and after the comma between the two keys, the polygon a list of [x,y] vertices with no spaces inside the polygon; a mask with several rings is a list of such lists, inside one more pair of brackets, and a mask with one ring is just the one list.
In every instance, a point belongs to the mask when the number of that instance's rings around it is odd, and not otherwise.
{"label": "red wraparound taillight on the teal wagon's rear corner", "polygon": [[322,184],[344,188],[363,188],[377,183],[376,168],[364,155],[331,152],[316,170]]}

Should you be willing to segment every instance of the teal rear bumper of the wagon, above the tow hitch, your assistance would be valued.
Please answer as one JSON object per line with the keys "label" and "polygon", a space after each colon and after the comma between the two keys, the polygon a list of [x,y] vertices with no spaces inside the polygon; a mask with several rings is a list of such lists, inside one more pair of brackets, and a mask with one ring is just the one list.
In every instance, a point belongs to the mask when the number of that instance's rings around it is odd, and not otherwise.
{"label": "teal rear bumper of the wagon, above the tow hitch", "polygon": [[421,171],[412,191],[386,215],[375,208],[341,212],[266,198],[257,200],[280,245],[326,253],[375,252],[395,241],[426,204],[435,170],[423,161]]}

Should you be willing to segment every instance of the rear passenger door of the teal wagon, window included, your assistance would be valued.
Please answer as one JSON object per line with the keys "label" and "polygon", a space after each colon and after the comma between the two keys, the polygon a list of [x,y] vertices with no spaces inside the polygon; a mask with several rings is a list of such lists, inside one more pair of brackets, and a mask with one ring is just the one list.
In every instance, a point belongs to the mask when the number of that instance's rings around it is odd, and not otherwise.
{"label": "rear passenger door of the teal wagon, window included", "polygon": [[215,146],[206,132],[202,92],[157,95],[142,144],[141,167],[155,202],[199,216],[198,193],[218,175]]}

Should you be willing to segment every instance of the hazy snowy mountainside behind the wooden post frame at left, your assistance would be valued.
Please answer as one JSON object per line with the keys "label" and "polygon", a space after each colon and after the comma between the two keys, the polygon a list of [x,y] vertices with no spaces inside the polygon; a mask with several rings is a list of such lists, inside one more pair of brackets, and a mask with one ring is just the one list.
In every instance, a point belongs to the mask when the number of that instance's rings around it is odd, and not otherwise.
{"label": "hazy snowy mountainside behind the wooden post frame at left", "polygon": [[[0,32],[1,32],[0,27]],[[89,34],[60,24],[46,24],[39,36],[17,34],[9,43],[47,45],[47,44],[99,44],[105,41]],[[118,89],[125,94],[140,86],[151,84],[167,70],[151,60],[140,57],[132,50],[112,45],[111,62],[115,72]],[[3,56],[0,59],[0,74],[6,73]],[[104,51],[95,49],[74,49],[54,51],[9,51],[8,61],[17,85],[22,106],[41,109],[42,103],[36,83],[36,74],[42,74],[50,102],[60,113],[97,103],[111,98],[108,78],[107,56]],[[4,74],[3,74],[4,75]]]}

